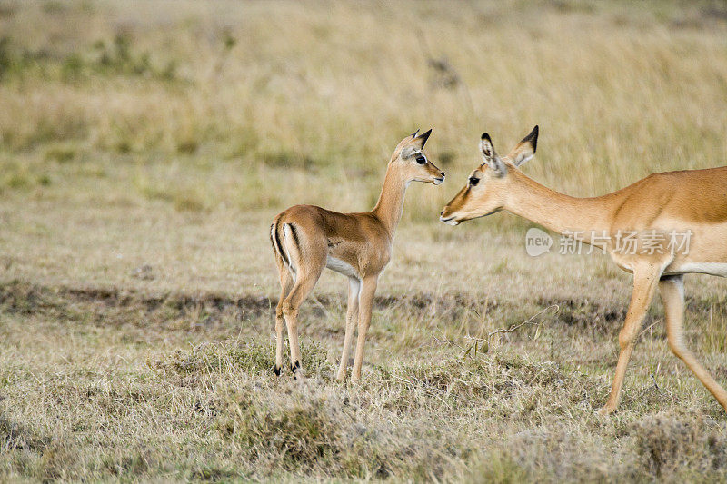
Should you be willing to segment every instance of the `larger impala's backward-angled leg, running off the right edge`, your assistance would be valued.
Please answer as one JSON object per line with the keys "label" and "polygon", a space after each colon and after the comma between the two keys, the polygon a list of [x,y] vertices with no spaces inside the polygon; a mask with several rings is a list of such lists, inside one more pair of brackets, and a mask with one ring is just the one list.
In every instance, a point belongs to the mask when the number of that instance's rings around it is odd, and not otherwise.
{"label": "larger impala's backward-angled leg, running off the right edge", "polygon": [[720,402],[722,408],[727,410],[727,392],[722,385],[712,378],[712,375],[697,361],[692,351],[684,345],[684,282],[683,276],[672,276],[662,278],[659,282],[659,290],[662,291],[664,313],[666,315],[666,335],[669,340],[669,347],[692,370],[692,373],[702,381],[702,384],[710,390],[714,398]]}

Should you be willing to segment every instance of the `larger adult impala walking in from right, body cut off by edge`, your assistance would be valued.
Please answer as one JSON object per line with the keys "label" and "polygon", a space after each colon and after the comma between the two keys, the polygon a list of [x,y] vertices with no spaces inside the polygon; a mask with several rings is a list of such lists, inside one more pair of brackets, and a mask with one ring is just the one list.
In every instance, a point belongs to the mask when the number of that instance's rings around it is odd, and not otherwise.
{"label": "larger adult impala walking in from right, body cut off by edge", "polygon": [[727,392],[686,348],[682,330],[683,274],[727,276],[727,167],[654,173],[617,192],[573,198],[520,171],[533,158],[537,140],[535,126],[500,157],[490,136],[483,134],[484,163],[444,207],[440,220],[457,225],[504,210],[582,242],[594,244],[595,234],[613,262],[633,273],[631,304],[619,333],[621,351],[603,413],[618,406],[626,365],[657,286],[670,348],[727,410]]}

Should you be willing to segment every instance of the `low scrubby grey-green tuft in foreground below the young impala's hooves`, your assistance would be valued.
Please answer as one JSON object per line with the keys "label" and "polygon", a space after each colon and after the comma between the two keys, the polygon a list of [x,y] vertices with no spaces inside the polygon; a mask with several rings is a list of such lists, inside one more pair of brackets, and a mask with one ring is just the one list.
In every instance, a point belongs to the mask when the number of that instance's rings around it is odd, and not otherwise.
{"label": "low scrubby grey-green tuft in foreground below the young impala's hooves", "polygon": [[260,468],[347,479],[384,478],[399,469],[423,479],[441,464],[385,427],[364,425],[353,408],[330,392],[296,388],[290,396],[277,395],[263,399],[257,393],[235,393],[217,420],[220,434]]}

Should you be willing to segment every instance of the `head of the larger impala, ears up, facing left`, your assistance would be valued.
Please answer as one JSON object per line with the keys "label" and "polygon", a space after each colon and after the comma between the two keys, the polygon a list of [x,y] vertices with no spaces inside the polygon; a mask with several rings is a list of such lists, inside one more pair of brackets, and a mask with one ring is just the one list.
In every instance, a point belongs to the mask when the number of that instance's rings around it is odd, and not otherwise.
{"label": "head of the larger impala, ears up, facing left", "polygon": [[470,174],[464,188],[447,203],[439,220],[457,225],[503,210],[513,189],[513,172],[519,172],[518,166],[533,158],[537,143],[538,127],[535,126],[510,153],[501,157],[494,151],[490,135],[484,133],[480,142],[484,163]]}

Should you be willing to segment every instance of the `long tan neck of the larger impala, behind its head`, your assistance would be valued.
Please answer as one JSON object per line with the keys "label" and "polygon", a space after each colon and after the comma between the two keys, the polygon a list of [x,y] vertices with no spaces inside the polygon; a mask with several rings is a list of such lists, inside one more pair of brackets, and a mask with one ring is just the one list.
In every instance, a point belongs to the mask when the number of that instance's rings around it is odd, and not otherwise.
{"label": "long tan neck of the larger impala, behind its head", "polygon": [[[512,188],[504,209],[553,232],[608,231],[614,197],[575,198],[535,182],[518,170],[511,170]],[[581,238],[581,237],[576,237]]]}

